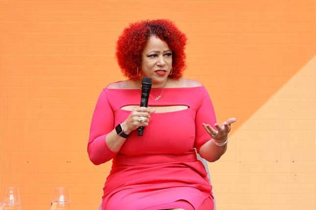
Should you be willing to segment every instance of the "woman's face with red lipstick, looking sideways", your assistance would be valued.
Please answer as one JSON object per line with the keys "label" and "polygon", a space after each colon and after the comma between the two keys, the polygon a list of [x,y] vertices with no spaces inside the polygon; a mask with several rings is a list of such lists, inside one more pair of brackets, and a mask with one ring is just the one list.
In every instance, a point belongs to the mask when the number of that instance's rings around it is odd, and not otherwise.
{"label": "woman's face with red lipstick, looking sideways", "polygon": [[149,77],[155,84],[165,84],[171,66],[172,52],[168,44],[151,36],[142,52],[141,77]]}

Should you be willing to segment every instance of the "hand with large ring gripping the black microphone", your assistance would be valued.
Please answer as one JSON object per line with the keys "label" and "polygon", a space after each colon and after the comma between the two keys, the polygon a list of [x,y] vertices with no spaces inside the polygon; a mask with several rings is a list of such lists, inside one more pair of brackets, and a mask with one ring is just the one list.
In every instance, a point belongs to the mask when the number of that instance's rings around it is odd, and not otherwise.
{"label": "hand with large ring gripping the black microphone", "polygon": [[[155,113],[154,109],[147,107],[134,108],[124,122],[122,127],[124,133],[129,134],[133,130],[136,130],[140,126],[148,126],[150,115]],[[139,118],[143,117],[143,122],[140,122]]]}

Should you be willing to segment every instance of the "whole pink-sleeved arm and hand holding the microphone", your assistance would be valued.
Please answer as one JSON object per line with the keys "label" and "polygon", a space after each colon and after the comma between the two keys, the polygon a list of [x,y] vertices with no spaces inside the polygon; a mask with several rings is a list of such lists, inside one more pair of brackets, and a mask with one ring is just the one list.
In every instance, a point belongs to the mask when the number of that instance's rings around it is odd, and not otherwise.
{"label": "whole pink-sleeved arm and hand holding the microphone", "polygon": [[[127,119],[122,122],[122,128],[129,134],[139,126],[148,126],[153,109],[147,107],[134,108]],[[144,122],[139,122],[139,117],[145,117]],[[121,149],[126,141],[115,130],[114,114],[103,89],[93,113],[90,136],[88,141],[88,154],[92,163],[99,165],[111,160]]]}

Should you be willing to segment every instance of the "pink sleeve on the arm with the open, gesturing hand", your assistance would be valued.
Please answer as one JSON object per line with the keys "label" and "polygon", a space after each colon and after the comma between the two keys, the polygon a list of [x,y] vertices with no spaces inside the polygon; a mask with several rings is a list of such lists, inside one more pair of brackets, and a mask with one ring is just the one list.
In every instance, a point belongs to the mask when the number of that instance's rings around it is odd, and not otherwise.
{"label": "pink sleeve on the arm with the open, gesturing hand", "polygon": [[195,143],[194,147],[199,153],[200,148],[211,139],[210,134],[206,132],[202,123],[209,124],[214,129],[214,124],[216,123],[216,116],[213,107],[213,103],[207,90],[203,88],[201,104],[196,110],[195,116]]}

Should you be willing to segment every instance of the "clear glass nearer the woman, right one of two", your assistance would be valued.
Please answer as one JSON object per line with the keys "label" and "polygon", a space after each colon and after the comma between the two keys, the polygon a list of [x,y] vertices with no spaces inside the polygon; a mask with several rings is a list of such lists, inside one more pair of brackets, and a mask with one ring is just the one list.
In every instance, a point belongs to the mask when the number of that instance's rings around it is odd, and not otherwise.
{"label": "clear glass nearer the woman, right one of two", "polygon": [[71,210],[69,188],[52,188],[50,210]]}

